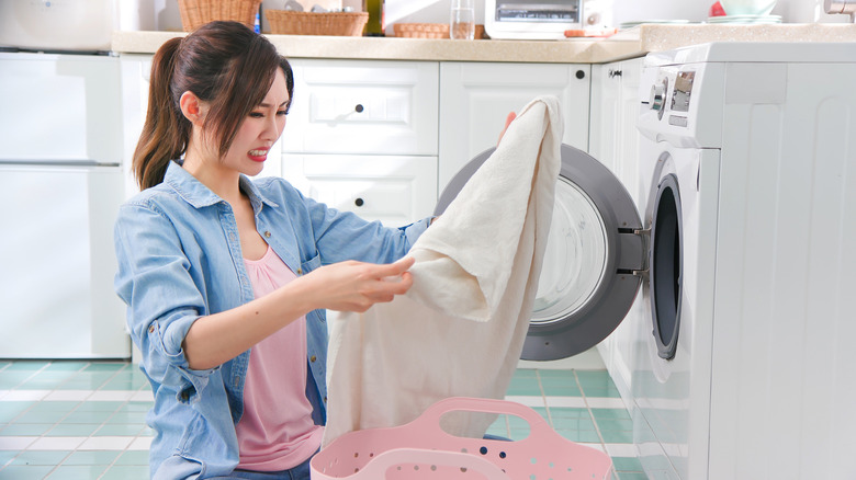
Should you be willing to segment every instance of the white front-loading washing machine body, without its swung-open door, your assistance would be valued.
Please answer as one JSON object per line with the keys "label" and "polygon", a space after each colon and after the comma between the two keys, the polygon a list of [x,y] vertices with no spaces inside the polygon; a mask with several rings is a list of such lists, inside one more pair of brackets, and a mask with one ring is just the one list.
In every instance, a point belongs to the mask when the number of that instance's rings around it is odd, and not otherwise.
{"label": "white front-loading washing machine body, without its swung-open door", "polygon": [[630,397],[652,479],[854,479],[856,44],[649,54]]}

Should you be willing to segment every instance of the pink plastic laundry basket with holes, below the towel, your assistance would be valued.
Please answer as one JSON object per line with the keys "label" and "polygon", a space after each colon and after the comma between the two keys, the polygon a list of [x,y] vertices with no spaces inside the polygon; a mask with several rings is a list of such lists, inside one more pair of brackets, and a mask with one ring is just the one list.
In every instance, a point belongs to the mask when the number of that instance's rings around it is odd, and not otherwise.
{"label": "pink plastic laundry basket with holes, below the towel", "polygon": [[[529,436],[515,442],[446,433],[440,418],[453,411],[517,415]],[[553,431],[534,410],[505,400],[448,398],[413,422],[350,432],[309,464],[313,480],[609,480],[612,460]]]}

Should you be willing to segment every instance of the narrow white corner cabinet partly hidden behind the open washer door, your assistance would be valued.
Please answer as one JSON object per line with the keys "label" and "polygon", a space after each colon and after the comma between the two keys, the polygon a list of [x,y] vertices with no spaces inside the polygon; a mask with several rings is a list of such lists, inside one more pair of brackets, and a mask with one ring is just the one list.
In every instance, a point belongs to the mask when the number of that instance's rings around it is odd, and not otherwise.
{"label": "narrow white corner cabinet partly hidden behind the open washer door", "polygon": [[[639,180],[639,84],[642,58],[595,65],[592,68],[592,118],[589,153],[608,167],[630,193],[635,205],[642,194]],[[646,192],[645,192],[646,194]],[[642,292],[631,308],[645,308]],[[634,368],[633,339],[643,325],[633,320],[642,315],[630,315],[600,344],[598,351],[621,396],[629,397]]]}

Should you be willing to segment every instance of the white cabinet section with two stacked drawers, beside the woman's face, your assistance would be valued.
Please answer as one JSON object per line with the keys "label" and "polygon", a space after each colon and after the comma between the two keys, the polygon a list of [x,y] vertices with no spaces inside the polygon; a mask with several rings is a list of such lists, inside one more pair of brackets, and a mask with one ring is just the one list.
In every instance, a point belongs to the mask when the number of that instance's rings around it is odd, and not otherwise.
{"label": "white cabinet section with two stacked drawers, beside the woman's face", "polygon": [[283,176],[312,198],[390,227],[431,215],[438,64],[290,61]]}

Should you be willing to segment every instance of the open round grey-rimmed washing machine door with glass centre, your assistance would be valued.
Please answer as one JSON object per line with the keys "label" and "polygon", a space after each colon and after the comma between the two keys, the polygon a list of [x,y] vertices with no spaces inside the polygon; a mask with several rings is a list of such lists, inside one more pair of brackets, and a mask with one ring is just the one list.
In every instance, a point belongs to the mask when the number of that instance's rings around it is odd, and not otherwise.
{"label": "open round grey-rimmed washing machine door with glass centre", "polygon": [[[455,174],[435,215],[446,210],[494,150],[480,153]],[[582,150],[562,145],[561,155],[523,359],[565,358],[606,339],[630,310],[645,263],[642,224],[621,182]]]}

